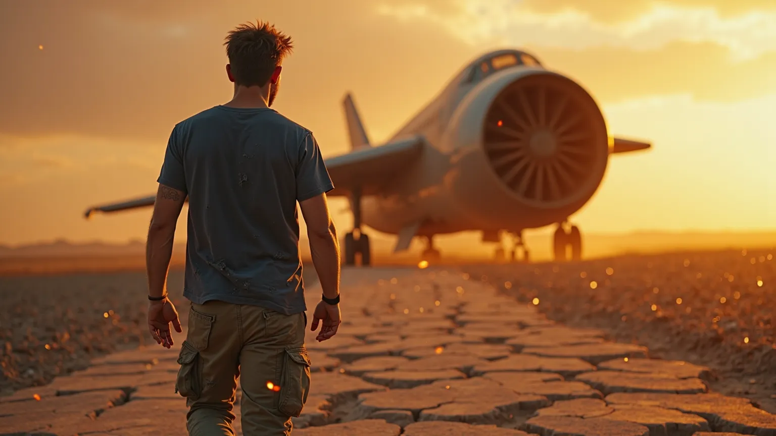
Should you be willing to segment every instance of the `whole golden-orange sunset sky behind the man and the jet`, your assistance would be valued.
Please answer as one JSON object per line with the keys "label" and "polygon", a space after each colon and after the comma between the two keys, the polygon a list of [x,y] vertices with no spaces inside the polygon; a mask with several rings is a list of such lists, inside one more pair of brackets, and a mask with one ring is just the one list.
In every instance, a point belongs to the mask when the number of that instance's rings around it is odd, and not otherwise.
{"label": "whole golden-orange sunset sky behind the man and the jet", "polygon": [[611,159],[584,232],[776,228],[773,0],[0,0],[0,244],[144,239],[150,209],[82,212],[155,192],[172,126],[231,97],[223,37],[255,19],[293,36],[274,107],[324,156],[348,149],[345,92],[379,143],[473,57],[523,47],[653,142]]}

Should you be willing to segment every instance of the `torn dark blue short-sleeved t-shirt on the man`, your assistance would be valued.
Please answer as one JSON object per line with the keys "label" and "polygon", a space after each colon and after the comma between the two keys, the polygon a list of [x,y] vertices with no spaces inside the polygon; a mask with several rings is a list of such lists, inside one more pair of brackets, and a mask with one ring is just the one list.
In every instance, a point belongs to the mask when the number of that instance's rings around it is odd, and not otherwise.
{"label": "torn dark blue short-sleeved t-shirt on the man", "polygon": [[189,196],[186,298],[307,309],[296,202],[334,189],[310,130],[215,106],[175,126],[158,182]]}

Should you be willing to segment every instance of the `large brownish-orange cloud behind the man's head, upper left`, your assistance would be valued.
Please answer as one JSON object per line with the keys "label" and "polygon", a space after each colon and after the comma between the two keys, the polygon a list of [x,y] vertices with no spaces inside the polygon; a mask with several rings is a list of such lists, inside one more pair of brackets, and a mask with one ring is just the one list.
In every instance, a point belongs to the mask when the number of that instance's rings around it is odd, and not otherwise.
{"label": "large brownish-orange cloud behind the man's head, upper left", "polygon": [[[263,18],[296,45],[275,108],[314,130],[325,152],[344,151],[338,108],[345,92],[359,92],[362,109],[390,120],[370,123],[376,131],[393,130],[416,109],[401,106],[395,90],[404,88],[407,100],[421,104],[414,95],[430,98],[423,92],[435,92],[440,76],[452,74],[461,51],[470,50],[438,29],[403,29],[361,0],[272,2],[260,9],[252,0],[150,5],[14,3],[0,17],[0,57],[13,60],[0,70],[0,82],[12,84],[0,87],[0,133],[163,147],[175,123],[230,99],[223,38],[236,24]],[[376,109],[365,95],[376,96]]]}

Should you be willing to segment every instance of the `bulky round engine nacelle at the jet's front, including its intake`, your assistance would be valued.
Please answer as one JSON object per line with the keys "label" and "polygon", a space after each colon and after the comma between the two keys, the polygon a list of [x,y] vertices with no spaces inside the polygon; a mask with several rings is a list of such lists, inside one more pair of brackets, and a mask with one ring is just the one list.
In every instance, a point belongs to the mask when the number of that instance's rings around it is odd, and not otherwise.
{"label": "bulky round engine nacelle at the jet's front, including its intake", "polygon": [[598,104],[575,81],[539,67],[500,71],[476,85],[442,144],[452,156],[445,188],[483,230],[566,220],[591,199],[608,163]]}

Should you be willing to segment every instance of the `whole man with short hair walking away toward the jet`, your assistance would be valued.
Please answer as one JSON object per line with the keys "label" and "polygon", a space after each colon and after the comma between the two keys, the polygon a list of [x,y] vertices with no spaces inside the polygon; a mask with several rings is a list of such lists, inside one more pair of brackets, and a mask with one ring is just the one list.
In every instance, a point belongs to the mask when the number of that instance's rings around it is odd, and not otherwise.
{"label": "whole man with short hair walking away toward the jet", "polygon": [[167,298],[175,223],[189,198],[183,295],[191,300],[176,391],[193,436],[234,435],[241,375],[246,435],[291,433],[310,389],[299,220],[307,223],[323,288],[311,330],[337,333],[339,247],[326,192],[334,186],[310,130],[270,109],[291,39],[268,23],[244,24],[225,43],[234,98],[172,130],[148,229],[148,327],[158,344],[182,331]]}

